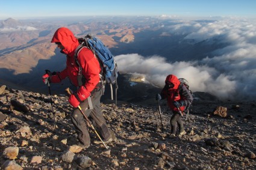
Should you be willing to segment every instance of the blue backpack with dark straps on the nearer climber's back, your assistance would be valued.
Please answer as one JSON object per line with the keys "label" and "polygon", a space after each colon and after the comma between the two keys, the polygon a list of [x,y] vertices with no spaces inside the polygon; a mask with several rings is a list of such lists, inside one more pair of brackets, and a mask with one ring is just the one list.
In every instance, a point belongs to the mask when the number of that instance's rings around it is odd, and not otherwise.
{"label": "blue backpack with dark straps on the nearer climber's back", "polygon": [[76,64],[79,66],[80,73],[81,74],[81,66],[80,63],[78,62],[77,56],[80,50],[83,47],[87,47],[88,49],[92,50],[94,55],[99,61],[99,64],[101,65],[101,70],[102,70],[102,77],[101,80],[105,80],[106,83],[110,84],[111,88],[111,99],[113,100],[113,90],[112,90],[112,84],[116,84],[116,104],[117,104],[117,64],[116,61],[114,61],[114,56],[106,47],[102,41],[93,36],[93,35],[86,35],[84,38],[77,38],[80,46],[77,48],[76,53],[75,53],[75,61]]}

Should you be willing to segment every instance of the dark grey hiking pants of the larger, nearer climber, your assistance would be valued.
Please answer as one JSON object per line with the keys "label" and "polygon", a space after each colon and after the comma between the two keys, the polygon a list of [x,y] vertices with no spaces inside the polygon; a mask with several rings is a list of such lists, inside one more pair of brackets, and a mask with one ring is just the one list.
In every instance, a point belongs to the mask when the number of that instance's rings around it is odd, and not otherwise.
{"label": "dark grey hiking pants of the larger, nearer climber", "polygon": [[[84,102],[80,103],[81,108],[83,109],[84,114],[93,121],[93,126],[103,138],[102,140],[108,140],[111,138],[110,130],[107,127],[105,119],[101,113],[101,103],[100,99],[103,91],[92,91],[92,104],[93,109],[89,108],[88,100],[84,100]],[[73,110],[71,121],[75,126],[76,132],[78,133],[78,141],[80,141],[84,145],[90,145],[90,135],[87,127],[87,120],[84,118],[81,111],[76,108]],[[89,127],[90,128],[90,127]]]}

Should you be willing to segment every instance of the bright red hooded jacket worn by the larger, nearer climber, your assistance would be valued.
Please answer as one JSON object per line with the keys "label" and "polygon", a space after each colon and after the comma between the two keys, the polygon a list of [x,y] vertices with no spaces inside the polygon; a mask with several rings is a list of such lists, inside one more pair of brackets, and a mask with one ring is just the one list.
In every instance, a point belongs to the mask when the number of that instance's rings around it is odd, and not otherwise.
{"label": "bright red hooded jacket worn by the larger, nearer climber", "polygon": [[[58,72],[57,75],[51,77],[53,83],[61,82],[61,80],[69,77],[70,81],[78,87],[78,70],[79,67],[75,62],[75,50],[80,45],[73,33],[67,28],[59,28],[52,37],[51,43],[60,42],[64,49],[62,50],[67,55],[66,68]],[[83,48],[78,53],[78,62],[82,67],[82,74],[86,78],[86,82],[77,91],[81,101],[90,96],[92,90],[99,83],[99,72],[101,71],[98,59],[93,54],[92,50]]]}

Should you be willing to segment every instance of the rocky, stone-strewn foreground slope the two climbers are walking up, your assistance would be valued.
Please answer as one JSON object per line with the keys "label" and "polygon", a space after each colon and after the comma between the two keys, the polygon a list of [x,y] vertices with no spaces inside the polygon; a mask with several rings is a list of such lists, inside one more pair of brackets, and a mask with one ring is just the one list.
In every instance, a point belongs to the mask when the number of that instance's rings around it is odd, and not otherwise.
{"label": "rocky, stone-strewn foreground slope the two climbers are walking up", "polygon": [[[86,150],[74,145],[66,96],[48,96],[1,88],[1,169],[256,169],[256,103],[195,100],[186,120],[186,135],[170,138],[170,114],[161,102],[146,106],[118,101],[102,103],[114,142]],[[226,117],[213,115],[217,106]]]}

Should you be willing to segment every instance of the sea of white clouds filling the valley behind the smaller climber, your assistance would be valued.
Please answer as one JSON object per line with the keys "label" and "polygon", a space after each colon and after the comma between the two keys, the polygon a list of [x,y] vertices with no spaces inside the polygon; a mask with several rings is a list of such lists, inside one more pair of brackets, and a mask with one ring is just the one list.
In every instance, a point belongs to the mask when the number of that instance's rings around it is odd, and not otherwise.
{"label": "sea of white clouds filling the valley behind the smaller climber", "polygon": [[[200,61],[166,62],[162,56],[137,53],[115,56],[119,71],[138,73],[164,86],[168,74],[186,78],[192,91],[204,91],[222,100],[256,99],[256,22],[246,19],[180,20],[169,26],[169,34],[179,32],[196,42],[221,37],[228,46]],[[193,58],[193,56],[191,56]],[[129,65],[129,67],[127,67]]]}

